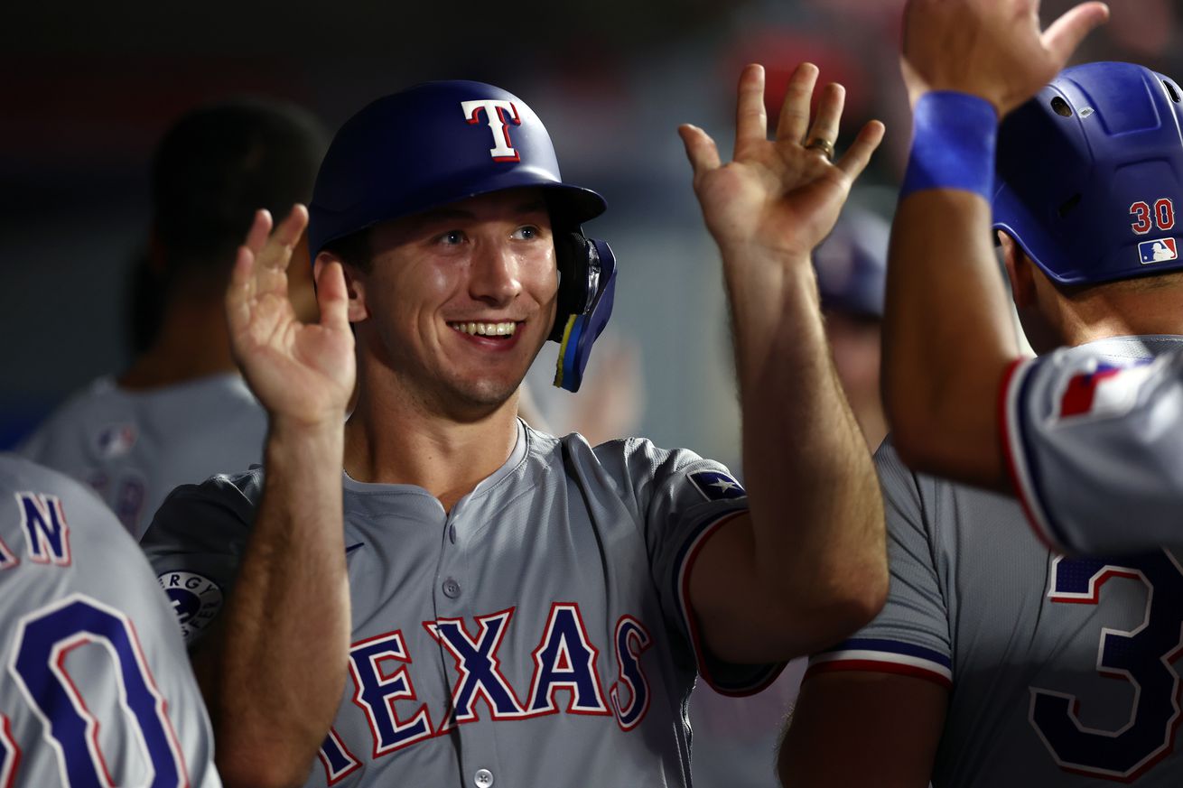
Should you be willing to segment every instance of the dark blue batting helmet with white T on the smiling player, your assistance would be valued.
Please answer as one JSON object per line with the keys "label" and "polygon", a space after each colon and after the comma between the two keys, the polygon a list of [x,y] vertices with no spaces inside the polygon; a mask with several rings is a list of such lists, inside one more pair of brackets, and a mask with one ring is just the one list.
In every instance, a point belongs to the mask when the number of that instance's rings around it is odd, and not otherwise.
{"label": "dark blue batting helmet with white T on the smiling player", "polygon": [[616,265],[580,225],[603,198],[564,183],[550,135],[525,102],[480,82],[427,82],[380,98],[329,146],[309,205],[312,259],[380,221],[503,189],[541,188],[555,224],[561,345],[555,386],[575,392],[592,344],[612,315]]}

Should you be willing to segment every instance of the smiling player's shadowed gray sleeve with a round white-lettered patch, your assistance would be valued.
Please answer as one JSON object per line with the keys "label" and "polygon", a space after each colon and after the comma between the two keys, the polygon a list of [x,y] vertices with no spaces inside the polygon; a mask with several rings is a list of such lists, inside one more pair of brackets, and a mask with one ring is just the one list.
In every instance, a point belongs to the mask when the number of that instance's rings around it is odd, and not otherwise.
{"label": "smiling player's shadowed gray sleeve with a round white-lettered patch", "polygon": [[233,586],[261,485],[261,469],[182,485],[141,540],[189,646],[218,618]]}

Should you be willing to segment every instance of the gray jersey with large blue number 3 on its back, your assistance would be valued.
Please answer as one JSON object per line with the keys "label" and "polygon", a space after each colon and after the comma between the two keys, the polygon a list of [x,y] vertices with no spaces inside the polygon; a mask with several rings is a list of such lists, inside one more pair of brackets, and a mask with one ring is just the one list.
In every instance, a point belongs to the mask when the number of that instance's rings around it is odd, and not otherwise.
{"label": "gray jersey with large blue number 3 on its back", "polygon": [[901,673],[949,687],[932,784],[1178,786],[1181,551],[1071,558],[1016,500],[875,456],[891,588],[819,671]]}

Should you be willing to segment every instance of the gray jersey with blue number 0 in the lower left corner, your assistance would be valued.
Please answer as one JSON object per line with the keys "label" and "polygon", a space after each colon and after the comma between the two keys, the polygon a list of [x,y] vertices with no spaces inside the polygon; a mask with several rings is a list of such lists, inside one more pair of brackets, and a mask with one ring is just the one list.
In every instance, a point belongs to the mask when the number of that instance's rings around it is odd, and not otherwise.
{"label": "gray jersey with blue number 0 in the lower left corner", "polygon": [[0,454],[0,786],[219,788],[175,616],[95,493]]}

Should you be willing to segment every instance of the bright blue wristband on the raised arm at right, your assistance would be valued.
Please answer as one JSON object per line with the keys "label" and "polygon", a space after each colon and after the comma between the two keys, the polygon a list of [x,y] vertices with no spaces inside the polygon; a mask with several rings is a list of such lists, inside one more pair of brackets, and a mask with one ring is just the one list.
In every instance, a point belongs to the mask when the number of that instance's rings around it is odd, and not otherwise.
{"label": "bright blue wristband on the raised arm at right", "polygon": [[978,96],[940,90],[920,96],[912,151],[899,196],[924,189],[961,189],[994,198],[998,114]]}

